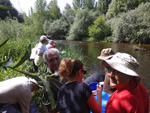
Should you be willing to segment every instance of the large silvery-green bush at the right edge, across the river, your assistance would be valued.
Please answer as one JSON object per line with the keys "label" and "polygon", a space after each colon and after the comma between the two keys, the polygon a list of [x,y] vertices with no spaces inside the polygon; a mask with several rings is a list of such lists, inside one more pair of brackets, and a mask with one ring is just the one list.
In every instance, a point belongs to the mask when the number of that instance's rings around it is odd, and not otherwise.
{"label": "large silvery-green bush at the right edge, across the river", "polygon": [[150,43],[150,3],[120,16],[114,29],[115,42]]}

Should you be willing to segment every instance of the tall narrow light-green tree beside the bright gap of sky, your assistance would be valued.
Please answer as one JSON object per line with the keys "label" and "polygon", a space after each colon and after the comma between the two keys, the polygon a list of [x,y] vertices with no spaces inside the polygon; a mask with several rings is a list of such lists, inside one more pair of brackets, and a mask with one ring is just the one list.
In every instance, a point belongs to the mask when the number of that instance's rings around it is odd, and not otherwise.
{"label": "tall narrow light-green tree beside the bright gap of sky", "polygon": [[49,10],[51,21],[59,19],[61,17],[60,9],[57,5],[57,0],[51,1]]}

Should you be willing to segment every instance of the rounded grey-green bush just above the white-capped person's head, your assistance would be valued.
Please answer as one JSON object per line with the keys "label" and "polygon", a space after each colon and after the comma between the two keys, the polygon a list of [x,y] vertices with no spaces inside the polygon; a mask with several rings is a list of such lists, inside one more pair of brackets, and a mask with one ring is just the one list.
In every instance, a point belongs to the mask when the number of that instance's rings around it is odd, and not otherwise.
{"label": "rounded grey-green bush just above the white-capped person's head", "polygon": [[65,39],[65,35],[69,31],[69,23],[65,18],[60,18],[59,20],[54,20],[52,23],[46,21],[44,23],[44,32],[51,39]]}

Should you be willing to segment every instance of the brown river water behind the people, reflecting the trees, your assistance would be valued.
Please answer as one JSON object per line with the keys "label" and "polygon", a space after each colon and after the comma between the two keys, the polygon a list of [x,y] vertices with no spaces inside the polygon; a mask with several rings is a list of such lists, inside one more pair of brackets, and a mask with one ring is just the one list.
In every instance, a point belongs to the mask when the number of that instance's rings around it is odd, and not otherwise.
{"label": "brown river water behind the people, reflecting the trees", "polygon": [[71,51],[81,50],[81,54],[87,60],[86,70],[89,74],[95,72],[104,72],[100,66],[100,60],[97,56],[104,48],[112,48],[114,52],[125,52],[134,56],[140,66],[137,73],[141,76],[141,82],[146,87],[150,97],[150,44],[141,45],[144,51],[135,51],[133,44],[126,43],[105,43],[105,42],[82,42],[82,41],[55,41],[58,47],[67,47]]}

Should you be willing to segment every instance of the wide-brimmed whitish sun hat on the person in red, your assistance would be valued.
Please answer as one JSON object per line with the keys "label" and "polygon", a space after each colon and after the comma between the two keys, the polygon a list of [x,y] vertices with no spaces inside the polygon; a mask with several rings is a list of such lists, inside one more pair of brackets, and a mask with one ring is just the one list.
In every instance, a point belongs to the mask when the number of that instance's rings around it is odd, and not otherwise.
{"label": "wide-brimmed whitish sun hat on the person in red", "polygon": [[[131,56],[127,53],[117,52],[111,59],[104,60],[104,62],[106,62],[113,69],[115,69],[121,73],[130,75],[130,76],[140,77],[135,72],[135,70],[139,66],[139,63],[133,56]],[[106,66],[106,65],[102,64],[102,66]]]}

